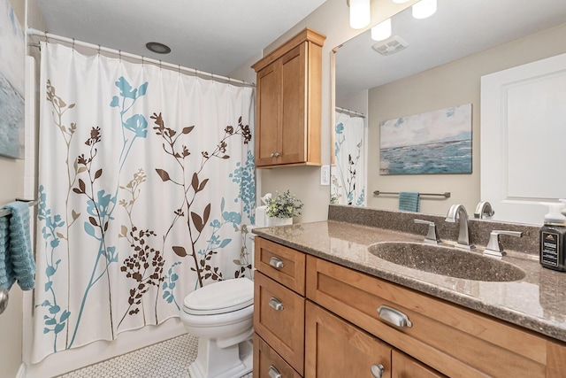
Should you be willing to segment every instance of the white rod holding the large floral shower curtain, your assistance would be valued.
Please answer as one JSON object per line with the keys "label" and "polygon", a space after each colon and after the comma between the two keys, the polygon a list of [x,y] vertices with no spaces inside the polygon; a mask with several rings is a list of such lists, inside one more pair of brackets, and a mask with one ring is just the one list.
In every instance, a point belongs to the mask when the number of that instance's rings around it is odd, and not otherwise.
{"label": "white rod holding the large floral shower curtain", "polygon": [[199,75],[199,76],[205,76],[205,77],[210,78],[211,80],[227,81],[227,82],[230,82],[230,83],[239,84],[239,85],[244,86],[244,87],[256,87],[256,84],[249,83],[249,82],[246,82],[246,81],[241,81],[241,80],[238,80],[238,79],[232,79],[230,77],[217,75],[217,74],[214,74],[214,73],[207,73],[207,72],[204,72],[204,71],[196,70],[195,68],[188,68],[188,67],[184,67],[184,66],[180,66],[180,65],[173,65],[172,63],[166,63],[166,62],[162,62],[161,60],[152,59],[152,58],[145,58],[141,55],[131,54],[129,52],[124,52],[122,50],[109,49],[109,48],[103,47],[99,44],[76,41],[74,38],[67,38],[67,37],[64,37],[64,36],[61,36],[61,35],[52,35],[50,33],[42,32],[41,30],[37,30],[37,29],[34,29],[32,27],[27,28],[27,35],[36,35],[36,36],[44,37],[46,41],[52,39],[52,40],[56,40],[58,42],[70,43],[73,46],[82,46],[82,47],[86,47],[88,49],[110,52],[111,54],[115,54],[115,55],[118,55],[120,57],[134,58],[134,59],[137,59],[137,60],[142,60],[142,62],[149,62],[149,63],[153,63],[153,64],[158,65],[158,66],[168,67],[168,68],[172,68],[174,70],[179,70],[179,71],[186,71],[186,72],[189,72],[189,73],[194,73],[195,75]]}

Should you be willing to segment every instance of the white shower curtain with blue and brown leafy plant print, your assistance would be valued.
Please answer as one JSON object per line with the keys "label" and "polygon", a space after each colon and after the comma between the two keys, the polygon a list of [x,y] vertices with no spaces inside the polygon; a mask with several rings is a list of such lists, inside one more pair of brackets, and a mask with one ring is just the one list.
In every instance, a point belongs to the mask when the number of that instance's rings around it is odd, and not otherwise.
{"label": "white shower curtain with blue and brown leafy plant print", "polygon": [[42,42],[32,362],[250,276],[253,89]]}

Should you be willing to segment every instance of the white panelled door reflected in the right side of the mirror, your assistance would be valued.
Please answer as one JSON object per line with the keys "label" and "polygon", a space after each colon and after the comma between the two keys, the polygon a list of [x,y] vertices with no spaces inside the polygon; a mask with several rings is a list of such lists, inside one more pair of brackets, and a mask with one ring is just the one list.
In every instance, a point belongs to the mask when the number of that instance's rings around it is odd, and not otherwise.
{"label": "white panelled door reflected in the right side of the mirror", "polygon": [[542,224],[566,198],[566,54],[481,78],[481,200],[494,220]]}

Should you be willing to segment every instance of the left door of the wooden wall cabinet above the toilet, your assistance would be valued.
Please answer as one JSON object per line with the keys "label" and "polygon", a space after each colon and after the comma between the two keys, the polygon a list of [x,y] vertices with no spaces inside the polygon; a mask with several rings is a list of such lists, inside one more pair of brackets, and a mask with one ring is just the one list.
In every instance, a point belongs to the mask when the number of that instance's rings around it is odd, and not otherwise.
{"label": "left door of the wooden wall cabinet above the toilet", "polygon": [[271,166],[279,158],[281,121],[281,61],[277,60],[257,73],[256,166]]}

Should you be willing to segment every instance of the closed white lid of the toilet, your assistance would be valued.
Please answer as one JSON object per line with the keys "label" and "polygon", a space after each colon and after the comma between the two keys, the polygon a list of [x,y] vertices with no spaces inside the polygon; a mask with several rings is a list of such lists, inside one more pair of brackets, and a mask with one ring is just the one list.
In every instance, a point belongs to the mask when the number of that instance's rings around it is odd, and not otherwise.
{"label": "closed white lid of the toilet", "polygon": [[196,289],[183,301],[183,311],[210,315],[241,310],[254,304],[254,282],[247,278],[214,282]]}

